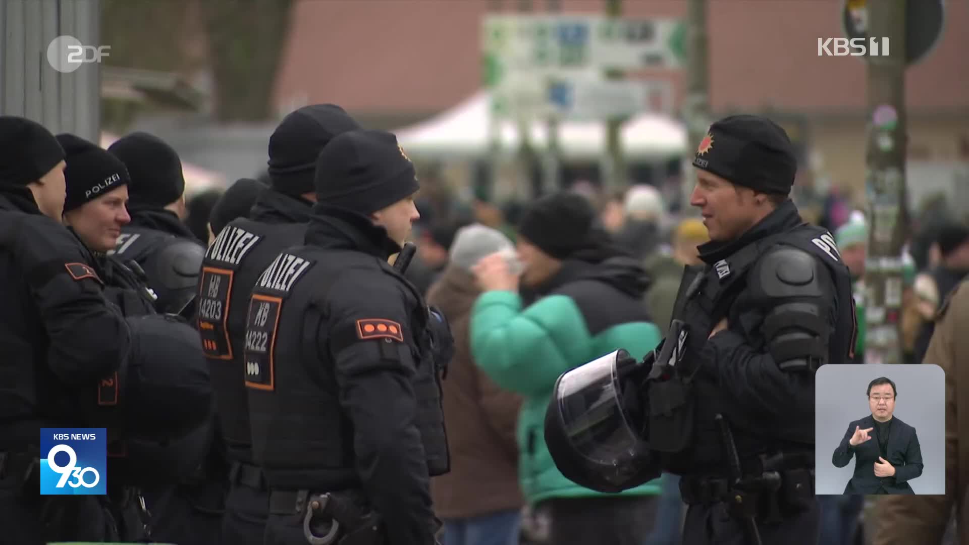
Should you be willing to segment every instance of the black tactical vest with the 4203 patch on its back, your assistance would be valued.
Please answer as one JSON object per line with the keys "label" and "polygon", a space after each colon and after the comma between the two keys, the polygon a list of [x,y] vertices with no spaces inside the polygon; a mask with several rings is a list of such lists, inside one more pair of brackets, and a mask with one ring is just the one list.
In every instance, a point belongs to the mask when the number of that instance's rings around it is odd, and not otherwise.
{"label": "black tactical vest with the 4203 patch on its back", "polygon": [[218,418],[231,460],[252,464],[249,400],[242,357],[249,295],[284,248],[299,244],[305,224],[235,219],[205,251],[199,276],[198,330],[208,360]]}

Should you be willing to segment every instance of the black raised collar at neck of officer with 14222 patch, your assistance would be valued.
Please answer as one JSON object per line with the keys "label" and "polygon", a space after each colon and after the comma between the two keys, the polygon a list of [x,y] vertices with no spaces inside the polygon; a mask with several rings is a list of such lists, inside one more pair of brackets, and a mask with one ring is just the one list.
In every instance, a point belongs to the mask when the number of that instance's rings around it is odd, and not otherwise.
{"label": "black raised collar at neck of officer with 14222 patch", "polygon": [[322,248],[357,250],[383,260],[400,251],[387,230],[346,208],[318,203],[312,209],[306,243]]}

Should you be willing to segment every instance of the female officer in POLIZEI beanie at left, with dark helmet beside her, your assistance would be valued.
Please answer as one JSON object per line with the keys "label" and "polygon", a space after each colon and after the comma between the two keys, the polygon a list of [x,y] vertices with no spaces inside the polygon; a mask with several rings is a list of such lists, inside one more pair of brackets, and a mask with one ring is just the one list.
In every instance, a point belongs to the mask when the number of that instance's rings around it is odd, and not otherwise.
{"label": "female officer in POLIZEI beanie at left, with dark helmet beside her", "polygon": [[[198,431],[213,402],[207,367],[195,330],[177,318],[156,316],[155,297],[139,265],[106,253],[130,220],[124,164],[74,135],[58,135],[57,142],[67,163],[64,223],[91,251],[91,266],[105,281],[107,299],[121,309],[132,331],[132,350],[113,381],[108,387],[92,385],[86,394],[98,401],[92,419],[109,430],[109,497],[120,538],[140,540],[147,536],[148,520],[139,489],[187,476],[207,451]],[[153,425],[158,418],[152,415],[158,413],[168,421],[162,426]],[[175,422],[180,430],[172,433]]]}

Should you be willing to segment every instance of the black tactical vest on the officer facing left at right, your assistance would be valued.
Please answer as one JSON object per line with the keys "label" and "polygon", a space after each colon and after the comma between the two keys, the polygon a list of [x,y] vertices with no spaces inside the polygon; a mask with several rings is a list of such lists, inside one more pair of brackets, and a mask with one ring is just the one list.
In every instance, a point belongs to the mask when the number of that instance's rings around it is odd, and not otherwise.
{"label": "black tactical vest on the officer facing left at right", "polygon": [[[724,317],[742,329],[756,331],[758,317],[746,308],[733,305],[737,295],[746,287],[747,272],[757,264],[768,249],[778,244],[794,246],[817,256],[825,264],[837,291],[836,326],[829,337],[828,363],[850,363],[854,356],[857,325],[851,277],[840,260],[840,254],[827,230],[802,224],[793,230],[756,240],[736,251],[730,257],[704,268],[687,268],[673,308],[673,318],[690,327],[685,362],[700,361],[703,346],[713,327]],[[732,330],[734,328],[732,327]],[[751,332],[753,333],[753,331]],[[766,350],[766,339],[758,335],[745,335],[745,340],[755,351]],[[797,372],[797,371],[792,371]],[[666,456],[664,468],[678,474],[724,474],[729,465],[722,446],[721,432],[714,416],[725,413],[720,387],[709,377],[698,373],[693,380],[693,435],[690,445],[682,452]],[[812,423],[801,423],[810,428]],[[741,461],[757,455],[773,452],[813,453],[813,441],[784,440],[768,433],[750,433],[733,427],[737,453]]]}

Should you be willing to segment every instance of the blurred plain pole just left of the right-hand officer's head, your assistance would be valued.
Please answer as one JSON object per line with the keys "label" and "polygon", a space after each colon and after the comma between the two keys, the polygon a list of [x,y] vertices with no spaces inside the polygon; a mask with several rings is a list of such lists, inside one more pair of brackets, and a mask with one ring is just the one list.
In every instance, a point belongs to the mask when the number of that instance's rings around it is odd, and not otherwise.
{"label": "blurred plain pole just left of the right-hand officer's head", "polygon": [[690,215],[693,192],[693,157],[710,127],[709,59],[706,46],[706,0],[687,2],[686,97],[683,119],[687,129],[686,154],[680,180],[680,213]]}

